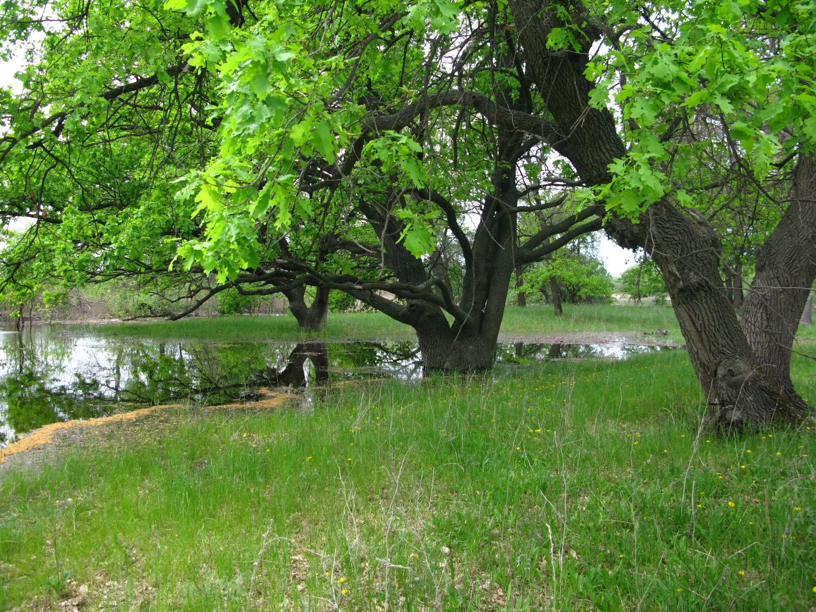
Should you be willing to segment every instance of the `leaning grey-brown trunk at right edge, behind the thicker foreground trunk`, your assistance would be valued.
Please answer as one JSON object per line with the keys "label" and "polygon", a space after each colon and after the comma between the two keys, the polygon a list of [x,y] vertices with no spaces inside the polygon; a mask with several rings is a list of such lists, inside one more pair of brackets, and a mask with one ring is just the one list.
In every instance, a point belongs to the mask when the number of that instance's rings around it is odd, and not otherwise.
{"label": "leaning grey-brown trunk at right edge, behind the thicker foreground trunk", "polygon": [[793,339],[816,278],[816,159],[800,155],[791,202],[756,256],[742,325],[765,378],[805,410],[791,382]]}

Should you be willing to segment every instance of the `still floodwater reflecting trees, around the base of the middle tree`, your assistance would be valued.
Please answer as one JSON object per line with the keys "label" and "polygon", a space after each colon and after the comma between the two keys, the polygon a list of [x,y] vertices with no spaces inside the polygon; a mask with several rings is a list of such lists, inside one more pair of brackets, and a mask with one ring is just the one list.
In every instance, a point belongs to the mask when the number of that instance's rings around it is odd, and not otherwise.
{"label": "still floodwater reflecting trees, around the base of the middle tree", "polygon": [[[497,367],[554,359],[623,359],[661,347],[499,344]],[[664,348],[663,348],[664,349]],[[17,433],[164,403],[251,400],[258,389],[310,388],[348,379],[419,379],[410,341],[217,343],[105,338],[65,326],[0,329],[0,446]]]}

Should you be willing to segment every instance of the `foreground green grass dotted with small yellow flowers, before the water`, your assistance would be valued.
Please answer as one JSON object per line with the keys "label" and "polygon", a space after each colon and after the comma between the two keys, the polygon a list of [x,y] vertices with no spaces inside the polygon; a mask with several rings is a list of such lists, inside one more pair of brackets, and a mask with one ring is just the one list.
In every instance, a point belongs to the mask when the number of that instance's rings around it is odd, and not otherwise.
{"label": "foreground green grass dotted with small yellow flowers, before the water", "polygon": [[677,351],[100,431],[0,477],[0,609],[808,610],[814,432],[702,403]]}

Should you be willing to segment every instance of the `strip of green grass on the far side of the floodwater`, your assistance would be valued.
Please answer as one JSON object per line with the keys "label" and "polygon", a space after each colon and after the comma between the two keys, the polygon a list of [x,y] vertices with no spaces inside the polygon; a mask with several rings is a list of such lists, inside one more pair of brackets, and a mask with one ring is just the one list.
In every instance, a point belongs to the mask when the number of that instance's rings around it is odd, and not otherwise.
{"label": "strip of green grass on the far side of the floodwater", "polygon": [[[157,338],[219,338],[231,340],[326,338],[415,339],[414,330],[382,313],[330,313],[326,326],[307,334],[299,330],[295,317],[215,317],[188,318],[173,322],[118,323],[105,326],[78,326],[104,335],[149,335]],[[668,306],[570,305],[556,317],[550,306],[508,307],[502,331],[508,335],[553,333],[644,331],[666,329],[669,339],[681,340],[677,321]],[[664,339],[663,337],[661,337]]]}

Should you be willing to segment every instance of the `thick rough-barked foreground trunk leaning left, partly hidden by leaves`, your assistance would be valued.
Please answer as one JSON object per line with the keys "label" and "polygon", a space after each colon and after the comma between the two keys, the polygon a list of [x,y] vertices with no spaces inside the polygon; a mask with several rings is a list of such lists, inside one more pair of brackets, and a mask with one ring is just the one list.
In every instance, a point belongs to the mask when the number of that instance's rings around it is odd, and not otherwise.
{"label": "thick rough-barked foreground trunk leaning left, partly hidden by leaves", "polygon": [[[605,184],[611,178],[608,166],[626,151],[611,113],[588,104],[593,85],[584,71],[599,32],[587,25],[580,2],[561,4],[510,0],[530,78],[563,134],[554,148],[586,184]],[[552,29],[574,26],[564,23],[566,14],[588,39],[581,51],[550,51],[546,43]],[[731,429],[765,424],[777,415],[801,415],[800,402],[780,396],[756,361],[725,293],[716,233],[706,220],[663,200],[650,206],[639,224],[612,217],[605,229],[621,246],[643,247],[658,264],[716,423]]]}

